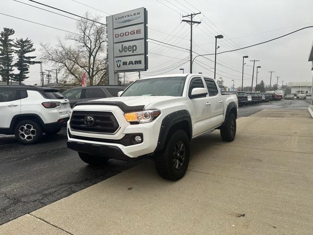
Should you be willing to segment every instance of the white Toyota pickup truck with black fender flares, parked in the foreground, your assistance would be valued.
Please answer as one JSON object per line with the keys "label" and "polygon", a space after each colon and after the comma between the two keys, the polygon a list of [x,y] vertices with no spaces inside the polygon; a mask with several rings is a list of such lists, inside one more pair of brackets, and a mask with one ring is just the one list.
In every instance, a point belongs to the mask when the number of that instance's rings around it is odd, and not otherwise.
{"label": "white Toyota pickup truck with black fender flares, parked in the foreground", "polygon": [[190,141],[220,129],[223,141],[236,135],[236,94],[222,95],[203,74],[147,77],[119,97],[81,102],[70,112],[67,146],[88,164],[152,155],[168,180],[185,174]]}

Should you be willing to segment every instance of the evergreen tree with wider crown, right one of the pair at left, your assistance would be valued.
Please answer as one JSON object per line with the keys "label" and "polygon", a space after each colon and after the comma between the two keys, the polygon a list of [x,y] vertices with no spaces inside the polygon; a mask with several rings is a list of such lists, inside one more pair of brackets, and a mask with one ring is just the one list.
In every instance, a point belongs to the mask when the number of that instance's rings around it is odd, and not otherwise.
{"label": "evergreen tree with wider crown, right one of the pair at left", "polygon": [[19,73],[14,74],[14,81],[21,82],[27,79],[27,73],[29,73],[29,65],[40,63],[39,61],[33,61],[36,56],[26,56],[27,53],[34,52],[36,49],[33,48],[33,42],[26,39],[16,39],[14,46],[16,47],[15,53],[18,56],[18,61],[14,66],[18,69]]}

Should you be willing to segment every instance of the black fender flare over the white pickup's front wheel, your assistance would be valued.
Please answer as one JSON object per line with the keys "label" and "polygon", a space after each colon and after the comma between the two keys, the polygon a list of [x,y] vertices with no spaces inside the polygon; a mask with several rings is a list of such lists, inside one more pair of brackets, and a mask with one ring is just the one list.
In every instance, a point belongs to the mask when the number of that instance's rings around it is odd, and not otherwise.
{"label": "black fender flare over the white pickup's front wheel", "polygon": [[155,152],[160,151],[163,149],[166,138],[172,126],[181,122],[181,121],[188,121],[189,129],[190,129],[190,136],[189,140],[192,139],[192,122],[191,116],[188,110],[178,110],[173,113],[170,113],[165,118],[163,118],[161,122],[160,132],[158,135],[158,141],[156,145]]}

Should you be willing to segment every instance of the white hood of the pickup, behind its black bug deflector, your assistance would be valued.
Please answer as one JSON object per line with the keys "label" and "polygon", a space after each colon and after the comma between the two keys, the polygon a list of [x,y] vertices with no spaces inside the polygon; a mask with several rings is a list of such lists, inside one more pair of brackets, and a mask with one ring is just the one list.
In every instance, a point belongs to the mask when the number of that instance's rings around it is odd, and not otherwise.
{"label": "white hood of the pickup, behind its black bug deflector", "polygon": [[177,96],[122,96],[96,99],[96,101],[120,101],[128,106],[144,105],[145,107],[151,103],[176,99]]}

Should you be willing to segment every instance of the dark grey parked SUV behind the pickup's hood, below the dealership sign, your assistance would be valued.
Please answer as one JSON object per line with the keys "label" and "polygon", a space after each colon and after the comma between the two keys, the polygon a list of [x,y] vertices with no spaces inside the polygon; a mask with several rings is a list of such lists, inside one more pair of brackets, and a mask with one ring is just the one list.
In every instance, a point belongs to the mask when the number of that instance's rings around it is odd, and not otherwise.
{"label": "dark grey parked SUV behind the pickup's hood, below the dealership sign", "polygon": [[124,91],[126,86],[89,86],[75,87],[63,93],[69,100],[72,108],[76,103],[93,99],[116,97],[117,93]]}

